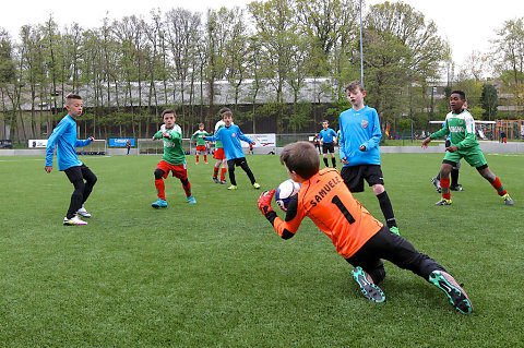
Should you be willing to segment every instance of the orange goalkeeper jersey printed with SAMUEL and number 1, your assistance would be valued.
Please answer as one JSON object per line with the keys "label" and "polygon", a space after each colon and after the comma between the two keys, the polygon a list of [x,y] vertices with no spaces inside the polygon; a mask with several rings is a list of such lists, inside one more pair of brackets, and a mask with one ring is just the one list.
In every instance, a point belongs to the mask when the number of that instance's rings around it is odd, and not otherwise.
{"label": "orange goalkeeper jersey printed with SAMUEL and number 1", "polygon": [[289,205],[285,221],[274,218],[273,227],[281,237],[293,237],[305,216],[331,238],[344,259],[355,254],[383,227],[353,196],[333,168],[325,168],[302,182],[297,204]]}

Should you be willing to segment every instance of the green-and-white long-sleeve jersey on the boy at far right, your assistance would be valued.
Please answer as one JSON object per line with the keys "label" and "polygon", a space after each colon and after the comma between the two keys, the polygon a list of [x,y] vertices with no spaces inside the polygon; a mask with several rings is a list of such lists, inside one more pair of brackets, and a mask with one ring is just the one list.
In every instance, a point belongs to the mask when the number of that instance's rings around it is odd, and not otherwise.
{"label": "green-and-white long-sleeve jersey on the boy at far right", "polygon": [[458,147],[460,151],[478,146],[475,135],[475,120],[467,110],[461,113],[450,112],[445,116],[444,125],[438,132],[431,134],[431,139],[442,137],[450,134],[451,146]]}

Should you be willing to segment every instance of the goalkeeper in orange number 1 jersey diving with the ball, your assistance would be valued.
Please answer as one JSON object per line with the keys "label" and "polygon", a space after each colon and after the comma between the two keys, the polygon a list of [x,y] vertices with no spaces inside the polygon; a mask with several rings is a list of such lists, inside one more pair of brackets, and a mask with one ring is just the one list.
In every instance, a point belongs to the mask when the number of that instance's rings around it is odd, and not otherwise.
{"label": "goalkeeper in orange number 1 jersey diving with the ball", "polygon": [[282,220],[271,207],[275,190],[265,191],[258,207],[278,236],[289,239],[305,216],[331,238],[336,251],[355,268],[352,271],[366,299],[384,302],[379,284],[385,277],[383,260],[409,269],[437,286],[461,313],[473,312],[466,292],[443,266],[418,252],[406,239],[390,231],[353,196],[335,168],[319,171],[319,155],[312,144],[298,142],[284,147],[281,163],[289,177],[301,183]]}

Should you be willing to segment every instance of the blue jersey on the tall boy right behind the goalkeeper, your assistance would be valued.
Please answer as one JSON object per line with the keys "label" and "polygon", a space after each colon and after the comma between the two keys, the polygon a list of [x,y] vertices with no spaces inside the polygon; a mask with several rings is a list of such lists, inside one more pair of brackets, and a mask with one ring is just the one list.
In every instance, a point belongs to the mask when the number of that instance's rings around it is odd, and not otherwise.
{"label": "blue jersey on the tall boy right behind the goalkeeper", "polygon": [[[341,113],[341,158],[348,161],[344,167],[358,165],[380,165],[379,143],[382,137],[377,110],[368,106],[360,110],[350,108]],[[366,151],[359,147],[366,146]]]}

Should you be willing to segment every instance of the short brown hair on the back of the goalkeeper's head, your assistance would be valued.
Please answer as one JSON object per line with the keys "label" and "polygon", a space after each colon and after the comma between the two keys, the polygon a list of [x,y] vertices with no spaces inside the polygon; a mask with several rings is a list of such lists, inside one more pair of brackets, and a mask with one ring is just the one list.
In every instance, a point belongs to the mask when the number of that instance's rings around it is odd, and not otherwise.
{"label": "short brown hair on the back of the goalkeeper's head", "polygon": [[291,143],[284,146],[281,164],[307,180],[319,172],[319,153],[309,142]]}

